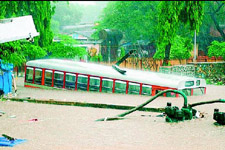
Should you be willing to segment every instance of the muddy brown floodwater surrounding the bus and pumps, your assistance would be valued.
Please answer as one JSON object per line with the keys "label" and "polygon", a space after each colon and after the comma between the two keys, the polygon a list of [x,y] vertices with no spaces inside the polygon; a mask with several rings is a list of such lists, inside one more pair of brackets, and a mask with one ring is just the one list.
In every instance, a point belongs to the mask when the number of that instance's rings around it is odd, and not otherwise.
{"label": "muddy brown floodwater surrounding the bus and pumps", "polygon": [[[18,78],[18,98],[56,99],[136,106],[150,97],[82,91],[43,90],[23,87]],[[188,103],[225,98],[225,86],[207,86],[207,94],[189,96]],[[181,107],[183,98],[160,97],[146,107],[165,107],[167,102]],[[215,126],[214,108],[225,104],[195,107],[205,117],[166,123],[159,113],[134,112],[124,120],[96,122],[125,110],[0,101],[0,133],[27,142],[2,150],[225,150],[225,126]],[[38,119],[37,121],[28,121]]]}

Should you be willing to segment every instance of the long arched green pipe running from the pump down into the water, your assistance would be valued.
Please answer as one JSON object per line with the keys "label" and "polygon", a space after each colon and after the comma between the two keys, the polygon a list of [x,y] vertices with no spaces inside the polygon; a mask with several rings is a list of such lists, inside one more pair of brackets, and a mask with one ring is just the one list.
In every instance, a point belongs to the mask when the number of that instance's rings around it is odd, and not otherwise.
{"label": "long arched green pipe running from the pump down into the water", "polygon": [[156,94],[155,96],[153,96],[152,98],[150,98],[149,100],[147,100],[145,103],[143,103],[143,104],[141,104],[141,105],[139,105],[139,106],[137,106],[137,107],[135,107],[135,108],[133,108],[133,109],[131,109],[131,110],[129,110],[129,111],[126,111],[126,112],[124,112],[124,113],[122,113],[122,114],[119,114],[119,115],[117,115],[116,117],[112,117],[112,118],[105,117],[105,118],[98,119],[98,120],[96,120],[96,121],[116,120],[116,118],[124,117],[124,116],[126,116],[126,115],[128,115],[128,114],[130,114],[130,113],[132,113],[132,112],[134,112],[134,111],[137,111],[138,109],[140,109],[140,108],[144,107],[145,105],[151,103],[151,102],[152,102],[153,100],[155,100],[157,97],[163,95],[164,93],[168,93],[168,92],[173,92],[173,93],[177,93],[177,94],[182,95],[183,98],[184,98],[184,106],[183,106],[183,107],[184,107],[184,108],[187,108],[187,107],[188,107],[188,106],[187,106],[187,96],[186,96],[183,92],[177,91],[177,90],[169,89],[169,90],[165,90],[165,91],[162,91],[162,92]]}

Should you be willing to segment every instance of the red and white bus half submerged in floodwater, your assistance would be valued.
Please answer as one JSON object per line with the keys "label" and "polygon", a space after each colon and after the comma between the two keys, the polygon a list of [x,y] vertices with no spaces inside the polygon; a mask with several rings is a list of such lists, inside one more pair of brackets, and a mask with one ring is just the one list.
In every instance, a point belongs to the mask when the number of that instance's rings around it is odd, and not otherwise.
{"label": "red and white bus half submerged in floodwater", "polygon": [[[111,66],[62,59],[40,59],[26,63],[25,87],[62,88],[109,93],[152,95],[174,89],[187,96],[206,93],[204,79],[125,69],[121,74]],[[178,97],[166,93],[164,96]]]}

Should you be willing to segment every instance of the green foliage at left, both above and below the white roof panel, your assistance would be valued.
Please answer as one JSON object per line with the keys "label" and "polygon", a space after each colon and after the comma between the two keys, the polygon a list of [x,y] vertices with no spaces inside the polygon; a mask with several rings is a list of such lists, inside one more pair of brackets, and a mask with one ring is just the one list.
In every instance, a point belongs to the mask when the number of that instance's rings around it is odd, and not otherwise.
{"label": "green foliage at left, both above and below the white roof panel", "polygon": [[40,36],[35,37],[34,44],[20,41],[0,44],[0,59],[18,66],[29,59],[46,55],[44,47],[50,45],[53,33],[50,28],[54,8],[50,1],[1,1],[0,18],[32,15]]}

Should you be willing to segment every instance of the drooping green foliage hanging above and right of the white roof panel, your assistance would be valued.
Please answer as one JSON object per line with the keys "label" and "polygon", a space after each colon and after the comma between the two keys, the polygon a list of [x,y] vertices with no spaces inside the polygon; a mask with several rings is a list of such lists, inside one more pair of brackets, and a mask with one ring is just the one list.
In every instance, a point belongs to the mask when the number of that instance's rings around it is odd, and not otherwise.
{"label": "drooping green foliage hanging above and right of the white roof panel", "polygon": [[32,15],[40,36],[35,37],[35,44],[41,47],[52,43],[53,33],[50,28],[54,8],[50,1],[1,1],[1,17],[11,18]]}

